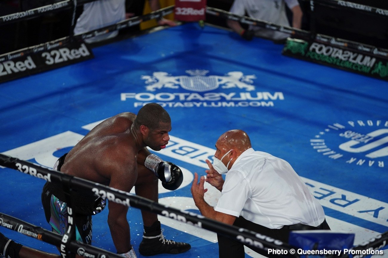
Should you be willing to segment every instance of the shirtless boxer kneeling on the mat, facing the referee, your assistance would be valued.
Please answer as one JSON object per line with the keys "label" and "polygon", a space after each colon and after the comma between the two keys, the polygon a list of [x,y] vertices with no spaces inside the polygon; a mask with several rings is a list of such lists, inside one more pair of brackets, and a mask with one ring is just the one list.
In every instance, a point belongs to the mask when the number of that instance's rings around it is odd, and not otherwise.
{"label": "shirtless boxer kneeling on the mat, facing the referee", "polygon": [[[160,105],[149,103],[137,115],[125,112],[101,122],[59,158],[54,169],[126,192],[135,186],[138,196],[158,202],[158,179],[168,190],[177,189],[183,181],[179,167],[161,160],[146,148],[155,151],[165,148],[170,131],[170,115]],[[105,200],[76,189],[71,197],[77,240],[90,244],[91,216],[105,207]],[[52,229],[64,234],[68,222],[62,187],[47,182],[42,191],[42,203]],[[128,207],[108,202],[108,209],[108,226],[117,253],[127,258],[136,257],[126,218]],[[190,244],[165,239],[157,216],[142,210],[144,235],[140,254],[178,254],[189,250]]]}

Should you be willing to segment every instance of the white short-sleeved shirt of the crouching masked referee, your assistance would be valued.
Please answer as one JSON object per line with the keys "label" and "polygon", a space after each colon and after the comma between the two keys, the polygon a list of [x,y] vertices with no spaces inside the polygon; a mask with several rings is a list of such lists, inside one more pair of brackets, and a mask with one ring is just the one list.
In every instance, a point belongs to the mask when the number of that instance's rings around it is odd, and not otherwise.
{"label": "white short-sleeved shirt of the crouching masked referee", "polygon": [[317,227],[325,218],[288,162],[253,148],[241,153],[227,172],[214,210],[270,229],[299,223]]}

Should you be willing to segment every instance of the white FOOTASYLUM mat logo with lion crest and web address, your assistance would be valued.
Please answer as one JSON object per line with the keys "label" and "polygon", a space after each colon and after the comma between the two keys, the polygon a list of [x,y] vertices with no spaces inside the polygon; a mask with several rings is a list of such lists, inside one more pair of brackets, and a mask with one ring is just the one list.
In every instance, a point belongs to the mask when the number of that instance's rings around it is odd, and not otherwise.
{"label": "white FOOTASYLUM mat logo with lion crest and web address", "polygon": [[[145,92],[121,93],[121,101],[134,100],[134,107],[156,102],[162,107],[274,107],[284,100],[282,92],[255,91],[256,76],[227,72],[224,76],[207,76],[208,70],[187,70],[189,76],[172,76],[168,72],[143,75]],[[163,91],[163,92],[157,92]]]}

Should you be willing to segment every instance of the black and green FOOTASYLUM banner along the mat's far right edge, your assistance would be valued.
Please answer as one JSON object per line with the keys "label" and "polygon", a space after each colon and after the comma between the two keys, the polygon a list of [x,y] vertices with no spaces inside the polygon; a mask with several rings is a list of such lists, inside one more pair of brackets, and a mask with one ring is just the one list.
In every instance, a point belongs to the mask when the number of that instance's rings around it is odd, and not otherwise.
{"label": "black and green FOOTASYLUM banner along the mat's far right edge", "polygon": [[365,54],[363,49],[360,51],[350,50],[346,47],[346,43],[335,45],[331,42],[324,43],[288,38],[282,53],[388,81],[388,58],[383,58],[384,55]]}

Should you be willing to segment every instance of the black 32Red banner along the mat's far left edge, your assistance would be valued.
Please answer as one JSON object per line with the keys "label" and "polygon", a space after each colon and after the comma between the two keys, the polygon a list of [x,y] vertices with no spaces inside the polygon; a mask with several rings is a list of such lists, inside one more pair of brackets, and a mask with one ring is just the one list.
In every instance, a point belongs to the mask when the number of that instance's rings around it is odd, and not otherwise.
{"label": "black 32Red banner along the mat's far left edge", "polygon": [[36,53],[27,55],[19,52],[0,57],[0,83],[94,57],[92,50],[82,42],[63,45],[61,41],[42,48],[43,52],[36,49]]}

